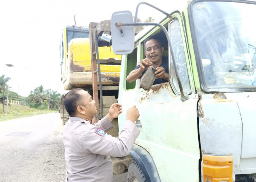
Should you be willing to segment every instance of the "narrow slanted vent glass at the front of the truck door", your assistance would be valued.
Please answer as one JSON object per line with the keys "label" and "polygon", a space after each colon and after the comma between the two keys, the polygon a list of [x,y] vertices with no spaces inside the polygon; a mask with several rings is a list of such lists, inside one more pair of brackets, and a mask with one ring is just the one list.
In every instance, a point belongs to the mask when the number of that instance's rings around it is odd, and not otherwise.
{"label": "narrow slanted vent glass at the front of the truck door", "polygon": [[[188,78],[188,69],[186,63],[186,56],[184,51],[184,44],[182,41],[182,32],[180,29],[180,23],[177,18],[172,21],[169,25],[169,32],[171,38],[171,44],[173,49],[173,54],[176,60],[176,64],[178,67],[178,72],[180,74],[181,84],[184,90],[184,94],[190,94],[191,88],[189,84]],[[170,56],[171,57],[171,56]],[[174,71],[173,60],[171,58],[171,65],[170,65],[170,84],[173,88],[175,94],[180,95],[180,89],[177,82],[177,77]]]}

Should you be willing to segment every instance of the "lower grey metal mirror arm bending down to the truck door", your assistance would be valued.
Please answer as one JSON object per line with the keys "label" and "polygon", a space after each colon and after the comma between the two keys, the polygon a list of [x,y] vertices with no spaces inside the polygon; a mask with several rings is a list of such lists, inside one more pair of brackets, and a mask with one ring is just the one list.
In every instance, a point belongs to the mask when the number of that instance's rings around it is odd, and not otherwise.
{"label": "lower grey metal mirror arm bending down to the truck door", "polygon": [[[170,36],[169,36],[168,31],[166,30],[166,28],[163,25],[161,25],[159,23],[154,23],[154,22],[149,22],[149,23],[115,23],[116,27],[120,27],[120,26],[140,26],[140,25],[154,25],[154,26],[158,26],[158,27],[160,27],[163,30],[163,32],[165,32],[165,36],[166,36],[166,38],[168,40],[171,56],[172,56],[172,59],[173,59],[173,66],[174,66],[175,74],[176,74],[176,77],[177,77],[177,82],[178,82],[178,85],[179,85],[179,88],[180,88],[180,96],[181,96],[180,99],[183,102],[188,100],[188,96],[184,95],[183,87],[182,87],[181,80],[180,80],[180,75],[178,74],[178,67],[177,67],[176,60],[174,58],[174,54],[173,54],[173,50],[172,50],[172,46],[171,46],[171,39],[170,39]],[[120,32],[122,30],[122,32],[123,32],[123,29],[121,29],[121,27],[120,27],[120,29],[118,28],[118,30]],[[121,32],[121,35],[123,36],[122,32]]]}

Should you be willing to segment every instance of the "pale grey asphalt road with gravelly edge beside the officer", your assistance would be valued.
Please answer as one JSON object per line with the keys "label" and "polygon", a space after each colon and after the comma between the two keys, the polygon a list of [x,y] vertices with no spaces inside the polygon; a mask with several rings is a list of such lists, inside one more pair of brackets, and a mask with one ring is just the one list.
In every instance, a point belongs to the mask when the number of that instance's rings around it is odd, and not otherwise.
{"label": "pale grey asphalt road with gravelly edge beside the officer", "polygon": [[62,131],[57,112],[0,122],[0,182],[64,182]]}

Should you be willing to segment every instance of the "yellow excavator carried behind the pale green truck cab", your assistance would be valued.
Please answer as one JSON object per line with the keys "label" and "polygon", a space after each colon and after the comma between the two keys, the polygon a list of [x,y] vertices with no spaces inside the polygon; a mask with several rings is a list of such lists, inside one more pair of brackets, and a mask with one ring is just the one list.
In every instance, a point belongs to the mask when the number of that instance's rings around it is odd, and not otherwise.
{"label": "yellow excavator carried behind the pale green truck cab", "polygon": [[[97,23],[95,23],[95,25],[97,25]],[[93,28],[95,29],[95,27]],[[82,88],[91,95],[94,95],[94,99],[96,96],[96,100],[100,100],[98,93],[93,92],[93,83],[95,83],[96,76],[96,90],[99,90],[97,86],[101,86],[101,89],[103,87],[105,88],[103,88],[102,94],[99,95],[114,96],[114,99],[110,99],[110,102],[115,103],[117,102],[116,98],[118,96],[121,55],[113,53],[110,41],[111,38],[109,38],[110,35],[104,33],[97,37],[91,36],[90,38],[89,36],[90,32],[88,27],[66,26],[63,28],[60,43],[60,66],[61,82],[63,83],[64,90]],[[92,41],[95,43],[96,39],[98,54],[96,54],[96,51],[92,52],[90,46],[90,43],[92,43]],[[95,44],[93,46],[95,48]],[[92,65],[93,62],[96,63],[97,60],[100,66],[99,69],[94,70]],[[115,88],[113,89],[113,87]],[[65,124],[69,117],[65,111],[63,97],[64,95],[61,97],[60,115]],[[103,114],[103,107],[98,111],[101,111]],[[96,119],[95,122],[97,122],[98,119]]]}

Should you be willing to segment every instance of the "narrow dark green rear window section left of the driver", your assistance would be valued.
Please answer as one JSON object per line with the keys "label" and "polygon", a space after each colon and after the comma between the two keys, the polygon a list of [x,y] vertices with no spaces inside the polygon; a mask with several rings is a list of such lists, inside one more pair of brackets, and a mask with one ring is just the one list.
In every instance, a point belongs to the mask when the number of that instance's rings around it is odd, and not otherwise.
{"label": "narrow dark green rear window section left of the driver", "polygon": [[[126,77],[136,66],[137,66],[137,48],[135,48],[131,54],[127,55]],[[126,89],[129,90],[129,89],[135,88],[135,84],[136,82],[131,82],[131,83],[126,82]]]}

